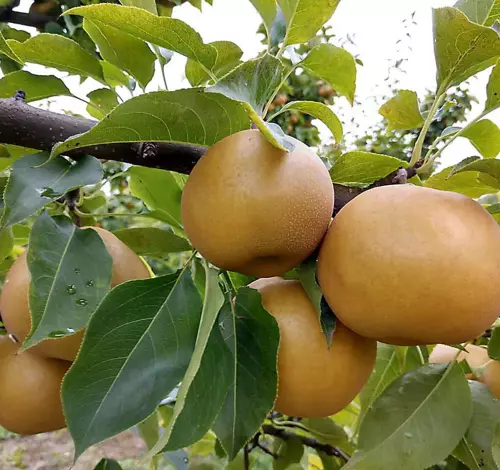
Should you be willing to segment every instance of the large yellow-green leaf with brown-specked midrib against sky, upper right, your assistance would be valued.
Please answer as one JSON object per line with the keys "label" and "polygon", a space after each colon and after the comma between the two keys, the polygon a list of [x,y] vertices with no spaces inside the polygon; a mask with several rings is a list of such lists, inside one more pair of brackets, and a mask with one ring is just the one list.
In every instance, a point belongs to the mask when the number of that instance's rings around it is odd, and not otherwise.
{"label": "large yellow-green leaf with brown-specked midrib against sky, upper right", "polygon": [[493,65],[500,37],[491,28],[471,23],[455,8],[434,10],[434,53],[441,91]]}

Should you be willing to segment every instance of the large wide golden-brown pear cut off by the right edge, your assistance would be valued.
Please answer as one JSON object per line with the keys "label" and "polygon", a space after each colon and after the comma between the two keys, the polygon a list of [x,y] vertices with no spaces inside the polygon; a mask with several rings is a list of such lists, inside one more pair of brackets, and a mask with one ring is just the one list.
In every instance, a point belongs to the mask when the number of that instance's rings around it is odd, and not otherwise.
{"label": "large wide golden-brown pear cut off by the right edge", "polygon": [[318,280],[348,328],[397,345],[473,339],[500,313],[500,228],[461,194],[370,189],[335,217]]}

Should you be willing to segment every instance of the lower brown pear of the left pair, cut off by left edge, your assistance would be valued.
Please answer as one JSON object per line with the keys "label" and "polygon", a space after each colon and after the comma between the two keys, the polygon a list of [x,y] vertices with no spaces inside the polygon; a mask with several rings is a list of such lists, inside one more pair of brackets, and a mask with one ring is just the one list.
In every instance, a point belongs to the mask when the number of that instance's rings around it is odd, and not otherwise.
{"label": "lower brown pear of the left pair, cut off by left edge", "polygon": [[19,352],[0,338],[0,426],[23,435],[66,427],[61,382],[71,363]]}

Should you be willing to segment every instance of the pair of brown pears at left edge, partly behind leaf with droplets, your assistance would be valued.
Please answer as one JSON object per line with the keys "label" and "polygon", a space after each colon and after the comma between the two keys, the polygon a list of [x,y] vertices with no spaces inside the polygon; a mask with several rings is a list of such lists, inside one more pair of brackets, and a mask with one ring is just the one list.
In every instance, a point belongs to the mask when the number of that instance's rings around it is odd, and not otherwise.
{"label": "pair of brown pears at left edge, partly behind leaf with droplets", "polygon": [[[144,262],[112,233],[92,227],[113,260],[111,287],[150,277]],[[0,312],[9,336],[0,339],[0,426],[23,435],[66,426],[61,383],[76,359],[84,330],[62,338],[48,338],[21,351],[31,330],[28,292],[31,275],[26,254],[19,256],[5,278]]]}

